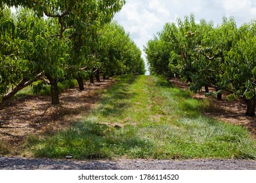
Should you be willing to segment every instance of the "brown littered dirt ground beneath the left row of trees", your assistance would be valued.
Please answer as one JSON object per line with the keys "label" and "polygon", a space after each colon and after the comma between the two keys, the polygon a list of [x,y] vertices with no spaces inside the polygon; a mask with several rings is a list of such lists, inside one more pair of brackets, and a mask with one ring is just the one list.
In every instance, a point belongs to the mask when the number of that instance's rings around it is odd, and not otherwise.
{"label": "brown littered dirt ground beneath the left row of trees", "polygon": [[70,126],[89,113],[102,90],[113,83],[112,79],[102,80],[85,83],[84,91],[78,87],[66,90],[60,94],[60,105],[52,105],[49,96],[20,97],[5,103],[0,110],[0,142],[14,148],[12,154],[16,154],[28,135],[49,135]]}

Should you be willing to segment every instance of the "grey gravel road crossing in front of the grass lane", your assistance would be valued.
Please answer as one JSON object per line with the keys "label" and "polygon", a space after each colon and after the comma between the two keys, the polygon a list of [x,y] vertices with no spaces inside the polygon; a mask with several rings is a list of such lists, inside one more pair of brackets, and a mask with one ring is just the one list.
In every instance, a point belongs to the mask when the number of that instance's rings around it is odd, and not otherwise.
{"label": "grey gravel road crossing in front of the grass lane", "polygon": [[2,170],[256,170],[256,161],[228,159],[77,161],[0,156]]}

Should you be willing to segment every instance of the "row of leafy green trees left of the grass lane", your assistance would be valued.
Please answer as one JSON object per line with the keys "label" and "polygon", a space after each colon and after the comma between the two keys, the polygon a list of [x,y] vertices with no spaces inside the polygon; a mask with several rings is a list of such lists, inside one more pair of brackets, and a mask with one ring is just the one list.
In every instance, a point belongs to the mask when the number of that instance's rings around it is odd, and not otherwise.
{"label": "row of leafy green trees left of the grass lane", "polygon": [[[112,34],[104,30],[108,29],[105,25],[112,22],[114,14],[124,4],[123,0],[34,0],[0,3],[0,101],[12,97],[18,92],[17,89],[21,90],[26,85],[16,87],[14,91],[10,86],[18,86],[24,80],[33,82],[41,73],[43,76],[37,79],[48,80],[47,83],[51,84],[53,104],[59,103],[57,84],[60,80],[75,78],[83,85],[84,79],[100,73],[104,76],[144,73],[144,61],[140,58],[141,52],[137,46],[129,47],[138,53],[133,62],[127,61],[126,57],[112,59],[106,55],[110,52],[100,52],[107,46],[102,42],[102,33],[105,37],[109,36],[106,33]],[[8,8],[12,6],[16,7],[16,14],[12,14]],[[129,37],[123,33],[123,29],[118,29],[116,35]],[[111,41],[116,41],[113,42],[116,45],[120,43],[116,39]],[[127,39],[128,44],[134,43]],[[121,52],[124,51],[114,50],[116,55],[123,55]],[[127,57],[134,58],[135,55],[130,52]],[[115,69],[119,72],[112,72],[112,65],[116,65]],[[136,67],[139,68],[137,72]]]}

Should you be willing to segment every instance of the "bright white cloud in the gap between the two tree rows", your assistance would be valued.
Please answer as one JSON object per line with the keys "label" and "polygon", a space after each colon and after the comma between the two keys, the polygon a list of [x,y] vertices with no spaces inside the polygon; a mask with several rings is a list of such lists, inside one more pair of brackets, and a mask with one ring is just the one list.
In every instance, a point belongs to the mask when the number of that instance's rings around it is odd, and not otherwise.
{"label": "bright white cloud in the gap between the two tree rows", "polygon": [[[158,8],[160,7],[160,8]],[[121,12],[116,14],[115,20],[123,25],[125,30],[137,43],[140,49],[152,39],[154,32],[160,31],[165,23],[163,17],[169,15],[167,9],[158,1],[127,1]]]}

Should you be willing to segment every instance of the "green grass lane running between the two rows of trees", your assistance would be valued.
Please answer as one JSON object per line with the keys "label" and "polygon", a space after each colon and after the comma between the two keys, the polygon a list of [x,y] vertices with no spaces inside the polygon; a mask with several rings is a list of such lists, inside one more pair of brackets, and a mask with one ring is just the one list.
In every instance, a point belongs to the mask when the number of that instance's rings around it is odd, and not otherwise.
{"label": "green grass lane running between the two rows of trees", "polygon": [[203,101],[157,76],[120,76],[70,129],[28,138],[35,157],[255,159],[246,129],[203,116]]}

